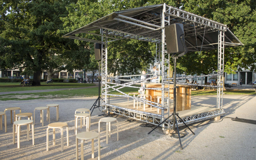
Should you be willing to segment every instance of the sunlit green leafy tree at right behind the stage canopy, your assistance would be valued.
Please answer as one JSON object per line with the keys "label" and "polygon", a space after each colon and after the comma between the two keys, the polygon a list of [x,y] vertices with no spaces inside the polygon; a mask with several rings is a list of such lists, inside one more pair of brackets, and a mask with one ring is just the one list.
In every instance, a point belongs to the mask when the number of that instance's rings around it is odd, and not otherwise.
{"label": "sunlit green leafy tree at right behind the stage canopy", "polygon": [[[256,2],[247,0],[189,0],[182,1],[182,9],[224,23],[244,44],[225,48],[224,72],[235,73],[241,68],[256,71]],[[218,50],[187,53],[177,63],[181,72],[208,74],[217,70]],[[189,59],[189,61],[187,61]]]}

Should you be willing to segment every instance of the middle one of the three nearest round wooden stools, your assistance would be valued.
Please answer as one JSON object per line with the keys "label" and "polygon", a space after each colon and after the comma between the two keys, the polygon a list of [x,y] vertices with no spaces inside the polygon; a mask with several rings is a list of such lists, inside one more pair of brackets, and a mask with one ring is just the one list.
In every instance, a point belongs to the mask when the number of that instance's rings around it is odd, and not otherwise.
{"label": "middle one of the three nearest round wooden stools", "polygon": [[48,125],[47,128],[47,135],[46,135],[46,150],[49,151],[49,129],[52,128],[53,130],[53,145],[55,145],[55,128],[59,128],[61,129],[61,151],[64,151],[64,147],[63,147],[63,128],[67,127],[67,146],[69,146],[69,140],[68,140],[68,126],[67,123],[65,122],[55,122],[55,123],[51,123]]}

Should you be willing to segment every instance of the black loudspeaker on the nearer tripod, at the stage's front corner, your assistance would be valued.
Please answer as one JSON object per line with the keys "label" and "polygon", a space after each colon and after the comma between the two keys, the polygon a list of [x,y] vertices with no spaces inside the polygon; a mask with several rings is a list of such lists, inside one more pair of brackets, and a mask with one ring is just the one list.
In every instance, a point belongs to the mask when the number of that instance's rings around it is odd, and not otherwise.
{"label": "black loudspeaker on the nearer tripod, at the stage's front corner", "polygon": [[[178,56],[185,55],[187,52],[183,24],[177,23],[165,28],[167,53]],[[172,55],[172,56],[173,56]]]}

